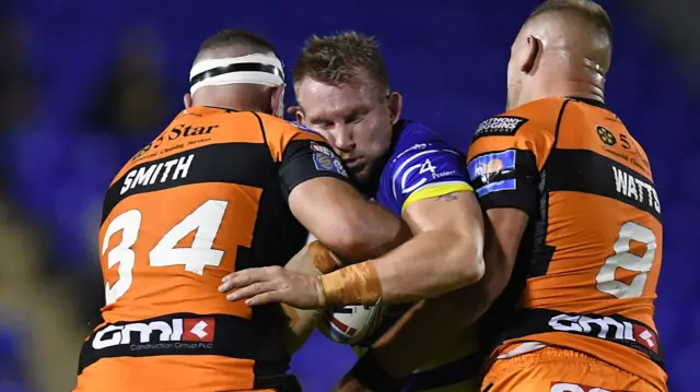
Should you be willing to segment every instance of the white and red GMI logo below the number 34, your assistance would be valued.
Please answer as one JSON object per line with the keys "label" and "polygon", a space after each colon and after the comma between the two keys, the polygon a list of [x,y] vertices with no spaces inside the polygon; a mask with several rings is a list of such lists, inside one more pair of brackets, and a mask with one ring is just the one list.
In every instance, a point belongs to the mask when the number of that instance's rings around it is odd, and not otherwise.
{"label": "white and red GMI logo below the number 34", "polygon": [[[94,349],[126,345],[132,351],[170,348],[207,348],[214,340],[214,319],[172,319],[107,325],[95,333]],[[180,343],[180,342],[190,342]]]}

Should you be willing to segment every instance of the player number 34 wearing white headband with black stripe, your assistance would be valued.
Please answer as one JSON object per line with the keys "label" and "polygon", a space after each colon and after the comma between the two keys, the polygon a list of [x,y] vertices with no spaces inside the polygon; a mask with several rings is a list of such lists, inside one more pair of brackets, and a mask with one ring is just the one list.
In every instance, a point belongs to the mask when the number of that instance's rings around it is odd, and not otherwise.
{"label": "player number 34 wearing white headband with black stripe", "polygon": [[106,305],[75,391],[295,390],[280,307],[226,301],[221,277],[284,265],[304,246],[304,226],[349,259],[410,237],[350,185],[320,135],[279,118],[284,74],[265,39],[210,37],[190,83],[187,109],[105,197]]}

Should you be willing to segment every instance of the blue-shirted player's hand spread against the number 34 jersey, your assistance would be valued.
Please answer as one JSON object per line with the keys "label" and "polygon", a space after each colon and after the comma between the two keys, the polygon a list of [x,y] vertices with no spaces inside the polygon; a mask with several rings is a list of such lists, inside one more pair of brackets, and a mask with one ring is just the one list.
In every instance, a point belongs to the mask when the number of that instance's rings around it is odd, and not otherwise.
{"label": "blue-shirted player's hand spread against the number 34 jersey", "polygon": [[324,307],[323,290],[316,275],[302,274],[281,266],[246,269],[223,277],[219,292],[230,301],[245,299],[247,306],[281,302],[299,309]]}

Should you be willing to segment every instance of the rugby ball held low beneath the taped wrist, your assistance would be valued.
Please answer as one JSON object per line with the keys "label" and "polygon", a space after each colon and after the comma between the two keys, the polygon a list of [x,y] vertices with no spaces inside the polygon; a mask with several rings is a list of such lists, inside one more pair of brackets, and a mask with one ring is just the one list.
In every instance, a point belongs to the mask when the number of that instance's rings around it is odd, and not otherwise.
{"label": "rugby ball held low beneath the taped wrist", "polygon": [[331,341],[354,346],[363,345],[363,341],[372,336],[381,323],[381,305],[348,305],[327,310],[317,328]]}

